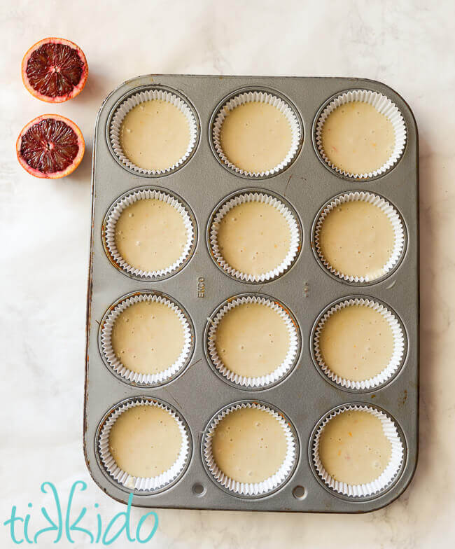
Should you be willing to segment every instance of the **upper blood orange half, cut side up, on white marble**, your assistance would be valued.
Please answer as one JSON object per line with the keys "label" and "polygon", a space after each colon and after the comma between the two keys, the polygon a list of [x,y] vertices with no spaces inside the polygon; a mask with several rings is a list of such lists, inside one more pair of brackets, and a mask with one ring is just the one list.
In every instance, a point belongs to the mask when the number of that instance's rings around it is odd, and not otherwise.
{"label": "upper blood orange half, cut side up, on white marble", "polygon": [[62,103],[83,90],[88,65],[83,50],[62,38],[36,42],[22,60],[22,80],[31,95],[48,103]]}

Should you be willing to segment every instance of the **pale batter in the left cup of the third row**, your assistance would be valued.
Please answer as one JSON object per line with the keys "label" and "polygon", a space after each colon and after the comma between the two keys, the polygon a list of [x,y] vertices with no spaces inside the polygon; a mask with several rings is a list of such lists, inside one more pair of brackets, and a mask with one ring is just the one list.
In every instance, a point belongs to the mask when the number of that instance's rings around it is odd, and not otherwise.
{"label": "pale batter in the left cup of the third row", "polygon": [[123,366],[133,372],[155,374],[174,364],[185,339],[181,320],[170,307],[139,301],[119,314],[111,342]]}

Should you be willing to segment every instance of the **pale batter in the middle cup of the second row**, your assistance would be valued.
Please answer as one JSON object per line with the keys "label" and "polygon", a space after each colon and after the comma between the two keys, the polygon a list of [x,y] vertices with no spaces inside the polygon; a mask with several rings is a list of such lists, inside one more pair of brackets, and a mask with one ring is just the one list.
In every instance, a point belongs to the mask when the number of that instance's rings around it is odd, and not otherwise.
{"label": "pale batter in the middle cup of the second row", "polygon": [[262,275],[278,267],[290,250],[288,221],[264,202],[244,202],[228,211],[218,228],[223,259],[246,275]]}

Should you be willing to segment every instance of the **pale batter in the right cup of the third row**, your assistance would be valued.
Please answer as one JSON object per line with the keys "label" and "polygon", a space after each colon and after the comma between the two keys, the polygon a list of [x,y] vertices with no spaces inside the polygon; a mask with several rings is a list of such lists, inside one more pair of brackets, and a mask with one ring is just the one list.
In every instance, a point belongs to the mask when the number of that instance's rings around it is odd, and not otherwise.
{"label": "pale batter in the right cup of the third row", "polygon": [[366,305],[349,305],[325,321],[319,349],[333,373],[346,380],[369,380],[388,365],[393,333],[379,312]]}

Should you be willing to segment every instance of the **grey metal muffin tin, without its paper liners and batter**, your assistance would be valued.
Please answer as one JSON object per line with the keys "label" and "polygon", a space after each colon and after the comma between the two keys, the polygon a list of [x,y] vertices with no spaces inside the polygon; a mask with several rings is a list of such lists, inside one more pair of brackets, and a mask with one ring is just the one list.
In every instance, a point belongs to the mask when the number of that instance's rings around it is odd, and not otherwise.
{"label": "grey metal muffin tin, without its paper liners and batter", "polygon": [[[192,155],[179,169],[160,176],[141,175],[123,167],[109,143],[109,123],[118,105],[137,91],[164,88],[188,100],[200,132]],[[279,174],[245,177],[221,165],[211,143],[211,122],[225,99],[245,89],[267,90],[297,112],[303,143],[295,160]],[[358,181],[336,174],[316,153],[314,127],[321,109],[334,95],[367,89],[391,99],[407,127],[405,151],[386,174]],[[118,197],[138,187],[157,187],[179,195],[194,212],[197,242],[193,257],[176,274],[155,282],[130,277],[111,263],[102,230],[106,213]],[[207,246],[209,220],[217,205],[241,190],[264,190],[283,197],[297,212],[302,249],[284,275],[252,284],[226,275]],[[377,193],[395,206],[407,232],[399,265],[373,283],[347,284],[330,275],[311,242],[316,216],[332,197],[351,190]],[[418,136],[412,111],[388,86],[359,78],[150,75],[120,85],[104,101],[94,133],[92,165],[92,235],[87,295],[84,452],[94,481],[113,499],[126,503],[130,490],[107,473],[99,458],[97,436],[109,412],[126,399],[152,397],[168,403],[188,424],[190,460],[179,478],[157,493],[134,490],[133,505],[155,508],[267,510],[362,513],[384,507],[405,490],[416,468],[419,432],[419,171]],[[120,297],[136,291],[162,292],[181,303],[194,326],[194,349],[183,371],[166,384],[144,387],[126,382],[106,366],[99,349],[99,326]],[[267,389],[248,390],[216,375],[204,350],[207,318],[225,300],[240,294],[262,294],[288,307],[300,328],[296,366]],[[366,296],[398,315],[406,336],[402,366],[390,381],[370,391],[353,391],[330,382],[318,369],[311,334],[320,314],[341,298]],[[266,403],[290,419],[297,436],[298,457],[287,482],[262,497],[241,497],[211,478],[202,458],[202,438],[211,418],[238,401]],[[397,478],[379,494],[359,499],[332,492],[316,475],[311,460],[314,432],[328,412],[360,403],[385,410],[398,424],[405,460]]]}

